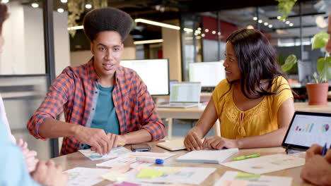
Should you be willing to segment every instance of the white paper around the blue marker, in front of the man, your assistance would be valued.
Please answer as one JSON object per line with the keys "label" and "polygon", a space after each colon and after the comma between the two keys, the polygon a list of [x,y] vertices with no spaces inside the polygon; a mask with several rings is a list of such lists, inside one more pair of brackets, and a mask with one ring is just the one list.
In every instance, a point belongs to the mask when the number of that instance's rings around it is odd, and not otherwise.
{"label": "white paper around the blue marker, in front of the man", "polygon": [[137,161],[136,157],[143,157],[143,158],[153,158],[153,159],[168,159],[171,156],[175,156],[176,154],[170,153],[155,153],[155,152],[132,152],[125,154],[117,159],[111,159],[109,161],[105,161],[103,163],[97,163],[96,166],[103,166],[103,167],[114,167],[114,166],[124,166],[130,164],[131,168],[137,168],[141,166],[151,166],[153,163],[149,162],[141,162]]}

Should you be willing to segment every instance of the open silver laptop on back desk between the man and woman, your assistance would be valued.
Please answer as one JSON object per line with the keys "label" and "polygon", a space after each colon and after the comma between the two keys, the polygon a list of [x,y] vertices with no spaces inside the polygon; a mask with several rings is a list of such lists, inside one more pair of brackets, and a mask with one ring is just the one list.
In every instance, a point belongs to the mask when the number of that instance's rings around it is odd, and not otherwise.
{"label": "open silver laptop on back desk between the man and woman", "polygon": [[161,104],[161,108],[189,108],[199,106],[201,82],[173,82],[170,85],[170,99],[168,104]]}

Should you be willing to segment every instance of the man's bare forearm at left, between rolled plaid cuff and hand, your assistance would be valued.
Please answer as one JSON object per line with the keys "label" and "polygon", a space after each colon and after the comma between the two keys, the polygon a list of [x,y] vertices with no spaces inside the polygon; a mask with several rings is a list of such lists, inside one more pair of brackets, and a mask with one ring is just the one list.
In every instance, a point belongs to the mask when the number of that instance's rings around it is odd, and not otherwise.
{"label": "man's bare forearm at left, between rolled plaid cuff and hand", "polygon": [[39,135],[45,138],[74,136],[79,127],[81,125],[48,118],[40,125]]}

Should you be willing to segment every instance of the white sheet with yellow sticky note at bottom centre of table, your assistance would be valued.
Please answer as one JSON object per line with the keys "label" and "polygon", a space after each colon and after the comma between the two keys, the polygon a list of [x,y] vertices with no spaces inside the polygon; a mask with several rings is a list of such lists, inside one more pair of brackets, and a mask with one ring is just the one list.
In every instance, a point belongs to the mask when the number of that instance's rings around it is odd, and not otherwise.
{"label": "white sheet with yellow sticky note at bottom centre of table", "polygon": [[[163,167],[150,166],[149,168],[161,171]],[[137,178],[138,171],[129,171],[125,173],[129,176],[129,182],[152,182],[152,183],[182,183],[182,184],[201,184],[211,173],[214,173],[216,168],[201,168],[201,167],[182,167],[178,172],[166,171],[158,178],[144,179]]]}

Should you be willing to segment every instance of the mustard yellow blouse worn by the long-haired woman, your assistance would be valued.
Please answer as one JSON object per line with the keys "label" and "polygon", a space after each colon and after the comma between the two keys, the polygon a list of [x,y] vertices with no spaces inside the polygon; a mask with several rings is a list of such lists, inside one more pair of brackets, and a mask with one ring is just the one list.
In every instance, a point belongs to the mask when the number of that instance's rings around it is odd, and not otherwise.
{"label": "mustard yellow blouse worn by the long-haired woman", "polygon": [[265,96],[257,106],[247,111],[240,111],[233,102],[233,86],[225,94],[230,88],[230,84],[227,80],[219,82],[212,97],[221,123],[221,136],[228,139],[238,139],[264,135],[267,132],[277,130],[278,109],[286,99],[293,98],[289,83],[284,77],[274,78],[271,91],[274,92],[277,87],[279,87],[277,91],[279,94]]}

